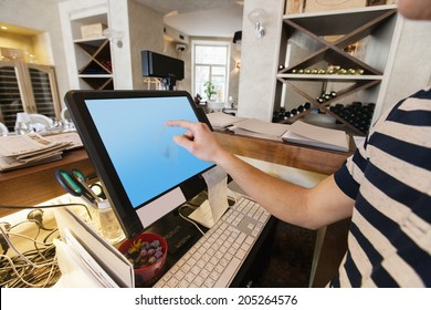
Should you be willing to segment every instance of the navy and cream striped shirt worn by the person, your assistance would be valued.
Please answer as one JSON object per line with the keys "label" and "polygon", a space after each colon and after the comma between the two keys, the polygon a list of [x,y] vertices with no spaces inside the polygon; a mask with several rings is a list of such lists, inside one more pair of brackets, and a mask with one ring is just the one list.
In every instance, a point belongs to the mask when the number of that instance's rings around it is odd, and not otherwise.
{"label": "navy and cream striped shirt worn by the person", "polygon": [[335,174],[355,199],[332,287],[431,287],[431,89],[390,108]]}

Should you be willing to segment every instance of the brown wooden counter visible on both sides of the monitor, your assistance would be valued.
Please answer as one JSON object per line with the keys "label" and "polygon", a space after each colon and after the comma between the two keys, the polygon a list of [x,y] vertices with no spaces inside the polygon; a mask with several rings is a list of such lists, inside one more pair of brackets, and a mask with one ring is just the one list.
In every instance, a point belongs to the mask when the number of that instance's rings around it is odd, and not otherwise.
{"label": "brown wooden counter visible on both sides of the monitor", "polygon": [[[350,154],[224,132],[217,132],[214,135],[217,141],[233,154],[320,174],[332,174]],[[54,176],[57,168],[78,168],[85,175],[95,174],[83,148],[65,152],[61,161],[0,173],[0,205],[32,206],[65,194]],[[0,217],[11,213],[13,209],[0,209]]]}

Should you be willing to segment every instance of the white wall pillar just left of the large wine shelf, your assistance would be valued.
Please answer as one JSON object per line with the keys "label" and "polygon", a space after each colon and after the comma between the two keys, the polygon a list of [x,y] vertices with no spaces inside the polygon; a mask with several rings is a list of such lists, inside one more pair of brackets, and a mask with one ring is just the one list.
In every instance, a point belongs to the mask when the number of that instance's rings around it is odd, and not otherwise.
{"label": "white wall pillar just left of the large wine shelf", "polygon": [[[276,72],[284,0],[244,1],[241,43],[241,78],[238,115],[271,121],[274,107]],[[256,38],[248,19],[253,9],[265,11],[264,38]]]}

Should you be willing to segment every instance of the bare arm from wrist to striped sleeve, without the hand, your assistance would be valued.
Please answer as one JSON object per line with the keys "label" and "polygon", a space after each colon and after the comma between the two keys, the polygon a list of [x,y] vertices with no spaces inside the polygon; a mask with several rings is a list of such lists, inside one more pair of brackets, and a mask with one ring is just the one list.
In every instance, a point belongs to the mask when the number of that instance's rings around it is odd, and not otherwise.
{"label": "bare arm from wrist to striped sleeve, without the hand", "polygon": [[317,229],[351,214],[353,200],[339,190],[333,176],[314,188],[305,188],[267,175],[224,151],[218,155],[216,164],[281,220]]}

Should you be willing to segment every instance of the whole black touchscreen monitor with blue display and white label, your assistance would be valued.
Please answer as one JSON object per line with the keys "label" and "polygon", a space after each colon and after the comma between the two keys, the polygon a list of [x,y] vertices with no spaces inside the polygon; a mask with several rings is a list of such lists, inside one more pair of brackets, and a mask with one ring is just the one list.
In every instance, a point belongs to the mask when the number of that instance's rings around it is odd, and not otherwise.
{"label": "whole black touchscreen monitor with blue display and white label", "polygon": [[204,122],[182,91],[71,91],[65,102],[127,237],[206,188],[213,166],[178,146],[169,120]]}

